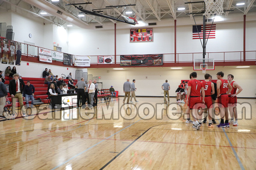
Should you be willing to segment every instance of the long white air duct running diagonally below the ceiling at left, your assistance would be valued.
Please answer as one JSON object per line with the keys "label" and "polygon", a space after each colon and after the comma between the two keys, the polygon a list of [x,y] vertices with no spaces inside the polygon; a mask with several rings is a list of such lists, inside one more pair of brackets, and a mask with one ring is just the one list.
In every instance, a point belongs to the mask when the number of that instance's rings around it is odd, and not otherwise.
{"label": "long white air duct running diagonally below the ceiling at left", "polygon": [[23,1],[30,5],[38,7],[39,9],[44,10],[45,12],[48,12],[53,16],[59,17],[66,22],[79,26],[80,28],[87,28],[86,25],[89,25],[86,22],[83,22],[78,18],[75,18],[73,15],[68,14],[66,11],[60,11],[56,6],[47,2],[46,0],[23,0]]}

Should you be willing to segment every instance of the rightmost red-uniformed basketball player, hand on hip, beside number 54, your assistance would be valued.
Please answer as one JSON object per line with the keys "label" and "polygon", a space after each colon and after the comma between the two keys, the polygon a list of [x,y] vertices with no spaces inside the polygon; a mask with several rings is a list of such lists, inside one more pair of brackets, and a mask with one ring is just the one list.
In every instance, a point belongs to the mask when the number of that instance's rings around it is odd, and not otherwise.
{"label": "rightmost red-uniformed basketball player, hand on hip, beside number 54", "polygon": [[[232,74],[228,75],[228,81],[230,83],[230,85],[233,87],[233,89],[231,90],[231,92],[228,94],[229,96],[229,104],[228,104],[228,108],[230,111],[230,124],[233,124],[233,126],[237,126],[238,122],[237,122],[237,94],[241,93],[241,91],[243,90],[241,86],[239,86],[239,84],[237,84],[237,82],[233,81],[234,76]],[[238,89],[238,91],[237,91]],[[235,122],[234,122],[234,117],[235,116]]]}

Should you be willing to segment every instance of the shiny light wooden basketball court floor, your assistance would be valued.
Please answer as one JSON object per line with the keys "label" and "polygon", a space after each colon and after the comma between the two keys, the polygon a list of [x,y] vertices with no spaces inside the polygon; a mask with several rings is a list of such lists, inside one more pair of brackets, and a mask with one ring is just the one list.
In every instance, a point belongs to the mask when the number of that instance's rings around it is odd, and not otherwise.
{"label": "shiny light wooden basketball court floor", "polygon": [[237,106],[237,127],[195,130],[174,98],[167,111],[163,98],[137,99],[123,105],[114,98],[94,110],[40,106],[26,118],[1,120],[0,169],[256,169],[256,100],[238,99],[246,105]]}

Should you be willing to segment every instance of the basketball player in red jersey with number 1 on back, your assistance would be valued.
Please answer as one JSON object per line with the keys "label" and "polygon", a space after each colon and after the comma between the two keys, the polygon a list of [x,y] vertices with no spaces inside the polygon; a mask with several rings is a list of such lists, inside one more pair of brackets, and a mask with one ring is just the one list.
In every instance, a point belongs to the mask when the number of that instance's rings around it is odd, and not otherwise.
{"label": "basketball player in red jersey with number 1 on back", "polygon": [[[204,103],[204,90],[203,90],[203,84],[199,80],[196,80],[197,73],[192,72],[191,73],[191,80],[188,82],[188,100],[187,104],[190,110],[192,110],[192,116],[194,116],[195,124],[193,125],[193,128],[196,130],[200,130],[201,123],[199,123],[197,120],[200,119],[200,116],[198,115],[198,107],[200,107],[198,104]],[[201,102],[201,93],[202,93],[202,102]]]}

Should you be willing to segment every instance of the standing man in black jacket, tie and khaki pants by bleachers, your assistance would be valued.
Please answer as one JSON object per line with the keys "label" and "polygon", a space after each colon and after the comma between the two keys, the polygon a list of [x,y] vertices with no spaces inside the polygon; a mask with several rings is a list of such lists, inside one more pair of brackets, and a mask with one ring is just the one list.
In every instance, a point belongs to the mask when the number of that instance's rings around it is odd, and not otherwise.
{"label": "standing man in black jacket, tie and khaki pants by bleachers", "polygon": [[26,111],[23,105],[23,89],[25,88],[25,83],[22,79],[19,79],[19,74],[13,75],[13,80],[10,80],[9,83],[9,91],[11,94],[12,100],[12,117],[15,117],[15,107],[16,107],[16,100],[14,98],[18,98],[19,105],[22,111],[22,116],[26,116]]}

